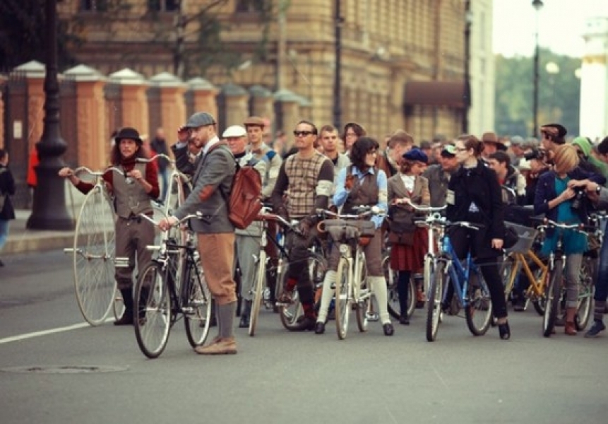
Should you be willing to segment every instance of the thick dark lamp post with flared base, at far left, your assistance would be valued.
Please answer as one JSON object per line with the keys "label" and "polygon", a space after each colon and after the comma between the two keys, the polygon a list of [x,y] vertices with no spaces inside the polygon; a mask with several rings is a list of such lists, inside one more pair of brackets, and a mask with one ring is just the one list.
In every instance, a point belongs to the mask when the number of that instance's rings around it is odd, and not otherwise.
{"label": "thick dark lamp post with flared base, at far left", "polygon": [[59,135],[59,81],[57,80],[57,0],[47,0],[47,73],[44,76],[44,129],[36,143],[40,164],[36,167],[37,187],[32,215],[27,227],[33,230],[71,230],[73,221],[66,208],[65,181],[58,172],[64,166],[60,156],[67,149]]}

